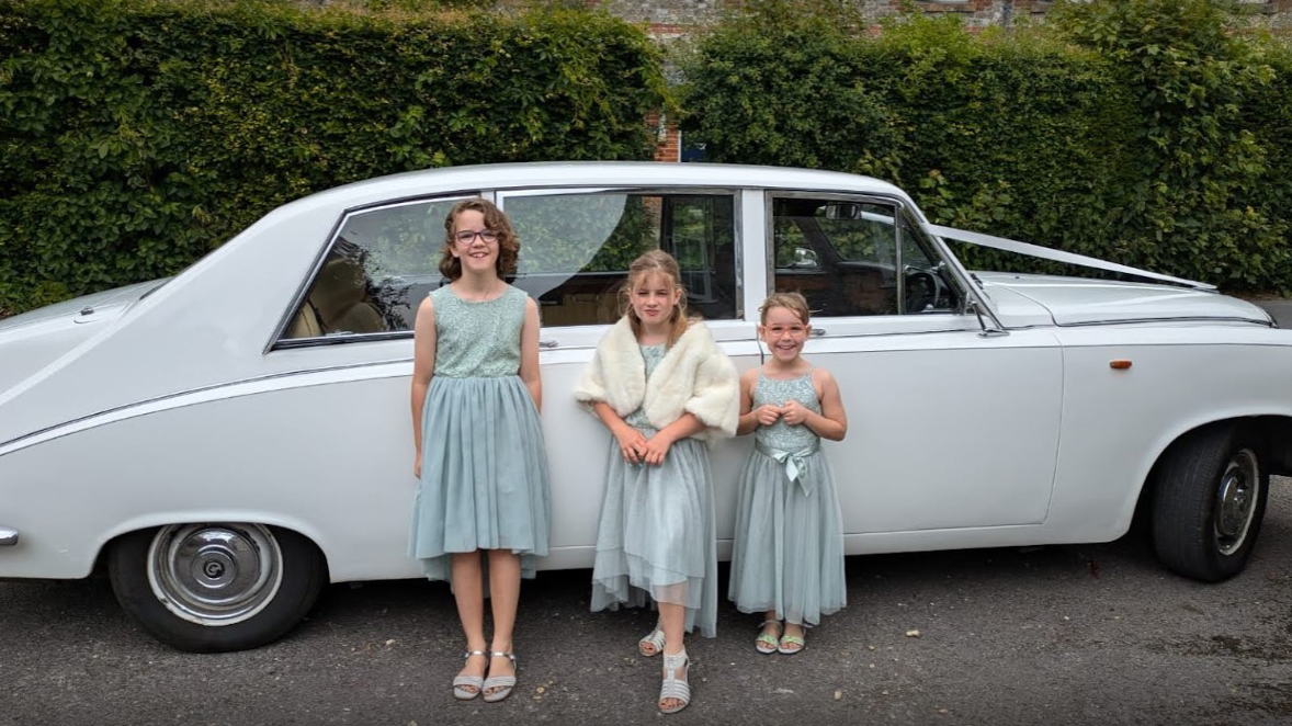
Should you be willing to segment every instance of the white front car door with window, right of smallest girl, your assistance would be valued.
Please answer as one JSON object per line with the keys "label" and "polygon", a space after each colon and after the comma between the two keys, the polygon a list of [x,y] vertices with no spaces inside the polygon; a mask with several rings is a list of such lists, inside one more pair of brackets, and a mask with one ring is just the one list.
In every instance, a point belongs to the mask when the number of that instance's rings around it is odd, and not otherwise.
{"label": "white front car door with window, right of smallest girl", "polygon": [[859,545],[873,534],[1041,523],[1062,403],[1053,335],[981,335],[948,251],[899,200],[767,192],[765,214],[769,288],[808,298],[806,357],[848,411],[826,451],[849,552],[884,549]]}

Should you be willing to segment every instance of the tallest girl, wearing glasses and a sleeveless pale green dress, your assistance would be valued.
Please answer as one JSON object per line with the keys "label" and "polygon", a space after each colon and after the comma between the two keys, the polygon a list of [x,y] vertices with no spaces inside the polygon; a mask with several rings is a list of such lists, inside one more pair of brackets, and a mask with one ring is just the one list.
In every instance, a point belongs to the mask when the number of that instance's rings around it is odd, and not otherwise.
{"label": "tallest girl, wearing glasses and a sleeveless pale green dress", "polygon": [[410,553],[429,579],[452,583],[466,637],[453,695],[499,701],[516,686],[512,629],[521,577],[532,577],[534,559],[548,553],[539,307],[503,279],[516,267],[519,244],[497,207],[459,202],[444,229],[439,270],[452,282],[421,302],[413,327],[413,474],[420,483]]}

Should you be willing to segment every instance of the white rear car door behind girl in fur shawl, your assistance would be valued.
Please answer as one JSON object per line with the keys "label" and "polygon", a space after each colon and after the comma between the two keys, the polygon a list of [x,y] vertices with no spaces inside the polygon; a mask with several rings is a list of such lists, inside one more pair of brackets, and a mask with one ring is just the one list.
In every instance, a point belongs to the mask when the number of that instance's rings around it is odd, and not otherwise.
{"label": "white rear car door behind girl in fur shawl", "polygon": [[[620,316],[628,265],[647,249],[673,254],[689,310],[703,315],[714,338],[734,346],[729,353],[743,346],[747,357],[753,354],[753,326],[740,319],[742,198],[738,190],[676,186],[497,191],[522,240],[514,284],[539,301],[543,319],[543,430],[552,473],[545,567],[592,562],[610,434],[571,391]],[[734,501],[738,460],[716,452],[720,512],[731,509],[726,503]]]}

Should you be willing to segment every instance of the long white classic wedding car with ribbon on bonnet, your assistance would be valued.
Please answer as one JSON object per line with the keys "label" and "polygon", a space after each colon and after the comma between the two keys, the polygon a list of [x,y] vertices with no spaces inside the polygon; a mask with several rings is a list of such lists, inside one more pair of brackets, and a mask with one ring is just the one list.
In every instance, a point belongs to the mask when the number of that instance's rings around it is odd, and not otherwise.
{"label": "long white classic wedding car with ribbon on bonnet", "polygon": [[[1292,332],[1209,285],[938,227],[899,189],[804,169],[553,163],[377,178],[293,202],[182,274],[0,322],[0,577],[106,568],[186,650],[269,642],[328,581],[417,577],[413,311],[443,220],[482,195],[540,302],[547,568],[589,567],[607,433],[570,390],[660,247],[738,367],[758,304],[802,292],[849,554],[1109,541],[1239,572],[1292,472]],[[970,273],[948,239],[1146,282]],[[730,554],[748,438],[712,450]]]}

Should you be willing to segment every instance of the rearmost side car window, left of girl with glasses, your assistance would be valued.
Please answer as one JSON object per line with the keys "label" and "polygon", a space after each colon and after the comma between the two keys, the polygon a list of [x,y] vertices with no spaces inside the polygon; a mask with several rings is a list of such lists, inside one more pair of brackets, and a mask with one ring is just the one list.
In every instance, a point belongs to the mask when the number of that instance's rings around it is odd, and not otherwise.
{"label": "rearmost side car window, left of girl with glasses", "polygon": [[349,214],[283,337],[412,331],[421,298],[439,287],[444,217],[460,199]]}

